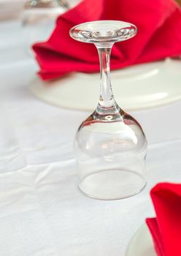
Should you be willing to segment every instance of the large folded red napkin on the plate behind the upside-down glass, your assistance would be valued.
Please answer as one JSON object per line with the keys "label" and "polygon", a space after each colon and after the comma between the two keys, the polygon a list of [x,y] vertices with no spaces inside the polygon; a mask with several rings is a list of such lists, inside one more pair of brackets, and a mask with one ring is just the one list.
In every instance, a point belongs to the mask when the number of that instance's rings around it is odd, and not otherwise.
{"label": "large folded red napkin on the plate behind the upside-down glass", "polygon": [[47,42],[33,46],[43,80],[99,72],[95,46],[69,37],[72,26],[93,20],[123,20],[138,28],[136,37],[113,46],[112,69],[181,54],[181,10],[174,0],[83,0],[59,16]]}

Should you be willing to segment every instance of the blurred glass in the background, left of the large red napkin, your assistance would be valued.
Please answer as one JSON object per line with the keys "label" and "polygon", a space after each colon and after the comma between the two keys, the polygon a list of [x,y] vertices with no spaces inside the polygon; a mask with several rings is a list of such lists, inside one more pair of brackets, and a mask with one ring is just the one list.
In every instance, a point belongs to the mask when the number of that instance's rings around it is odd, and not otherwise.
{"label": "blurred glass in the background, left of the large red napkin", "polygon": [[23,33],[26,46],[48,39],[58,15],[69,8],[66,0],[28,0],[23,10]]}

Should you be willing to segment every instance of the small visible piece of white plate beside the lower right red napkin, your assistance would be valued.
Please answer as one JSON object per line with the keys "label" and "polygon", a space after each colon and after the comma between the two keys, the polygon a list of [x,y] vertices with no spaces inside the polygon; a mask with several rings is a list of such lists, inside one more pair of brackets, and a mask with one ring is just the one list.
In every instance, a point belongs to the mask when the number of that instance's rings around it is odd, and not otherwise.
{"label": "small visible piece of white plate beside the lower right red napkin", "polygon": [[126,256],[156,256],[152,237],[146,224],[139,227],[131,238]]}

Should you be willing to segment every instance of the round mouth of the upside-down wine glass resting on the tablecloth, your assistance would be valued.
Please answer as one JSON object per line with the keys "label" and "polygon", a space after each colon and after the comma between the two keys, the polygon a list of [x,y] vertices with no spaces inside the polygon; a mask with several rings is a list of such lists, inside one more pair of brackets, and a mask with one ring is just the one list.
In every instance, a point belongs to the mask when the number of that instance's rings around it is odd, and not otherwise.
{"label": "round mouth of the upside-down wine glass resting on the tablecloth", "polygon": [[131,197],[145,188],[146,181],[133,170],[99,170],[82,178],[80,192],[100,200],[118,200]]}

